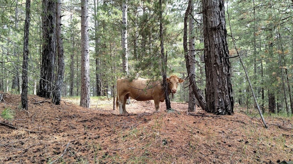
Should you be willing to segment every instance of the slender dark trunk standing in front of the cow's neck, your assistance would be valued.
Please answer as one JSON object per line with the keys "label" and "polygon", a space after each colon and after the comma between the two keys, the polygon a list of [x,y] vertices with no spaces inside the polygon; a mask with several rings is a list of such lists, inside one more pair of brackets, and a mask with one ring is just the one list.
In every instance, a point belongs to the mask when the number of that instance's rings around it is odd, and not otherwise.
{"label": "slender dark trunk standing in front of the cow's neck", "polygon": [[168,83],[166,81],[167,78],[167,54],[165,56],[164,52],[164,36],[163,36],[163,9],[162,9],[162,0],[159,0],[159,21],[160,21],[160,45],[161,45],[161,62],[162,62],[162,77],[163,84],[162,87],[165,90],[165,103],[166,109],[171,109],[171,102],[168,93]]}

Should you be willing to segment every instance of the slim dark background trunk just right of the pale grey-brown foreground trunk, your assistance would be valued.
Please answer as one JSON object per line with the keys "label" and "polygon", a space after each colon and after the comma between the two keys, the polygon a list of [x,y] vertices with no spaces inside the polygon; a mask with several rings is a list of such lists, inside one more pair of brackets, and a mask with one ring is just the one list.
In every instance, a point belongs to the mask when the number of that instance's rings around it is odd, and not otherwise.
{"label": "slim dark background trunk just right of the pale grey-brown foreground trunk", "polygon": [[[97,1],[98,2],[98,1]],[[98,17],[97,17],[97,7],[96,0],[93,1],[94,4],[94,20],[95,20],[95,57],[96,57],[96,93],[97,96],[101,96],[100,87],[100,55],[99,55],[99,37],[98,37]]]}

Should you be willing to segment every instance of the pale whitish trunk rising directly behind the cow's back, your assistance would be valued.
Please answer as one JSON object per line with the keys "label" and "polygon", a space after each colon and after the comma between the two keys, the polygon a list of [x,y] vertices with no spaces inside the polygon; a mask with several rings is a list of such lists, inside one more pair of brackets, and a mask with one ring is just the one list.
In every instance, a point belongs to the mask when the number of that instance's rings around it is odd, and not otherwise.
{"label": "pale whitish trunk rising directly behind the cow's back", "polygon": [[122,0],[122,67],[125,75],[129,75],[128,70],[128,47],[127,47],[127,0]]}

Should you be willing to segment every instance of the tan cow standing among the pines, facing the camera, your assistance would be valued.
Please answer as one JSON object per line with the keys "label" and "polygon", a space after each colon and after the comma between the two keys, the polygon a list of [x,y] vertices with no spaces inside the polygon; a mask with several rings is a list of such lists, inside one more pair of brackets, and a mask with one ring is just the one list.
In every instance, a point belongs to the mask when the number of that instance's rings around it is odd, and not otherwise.
{"label": "tan cow standing among the pines, facing the camera", "polygon": [[[184,82],[181,77],[172,75],[166,78],[168,93],[175,94],[178,83]],[[156,112],[159,111],[160,102],[164,102],[165,94],[162,88],[162,81],[151,82],[150,79],[137,78],[129,80],[126,78],[117,79],[116,109],[119,106],[120,114],[127,114],[125,109],[126,100],[131,97],[137,101],[154,100]]]}

